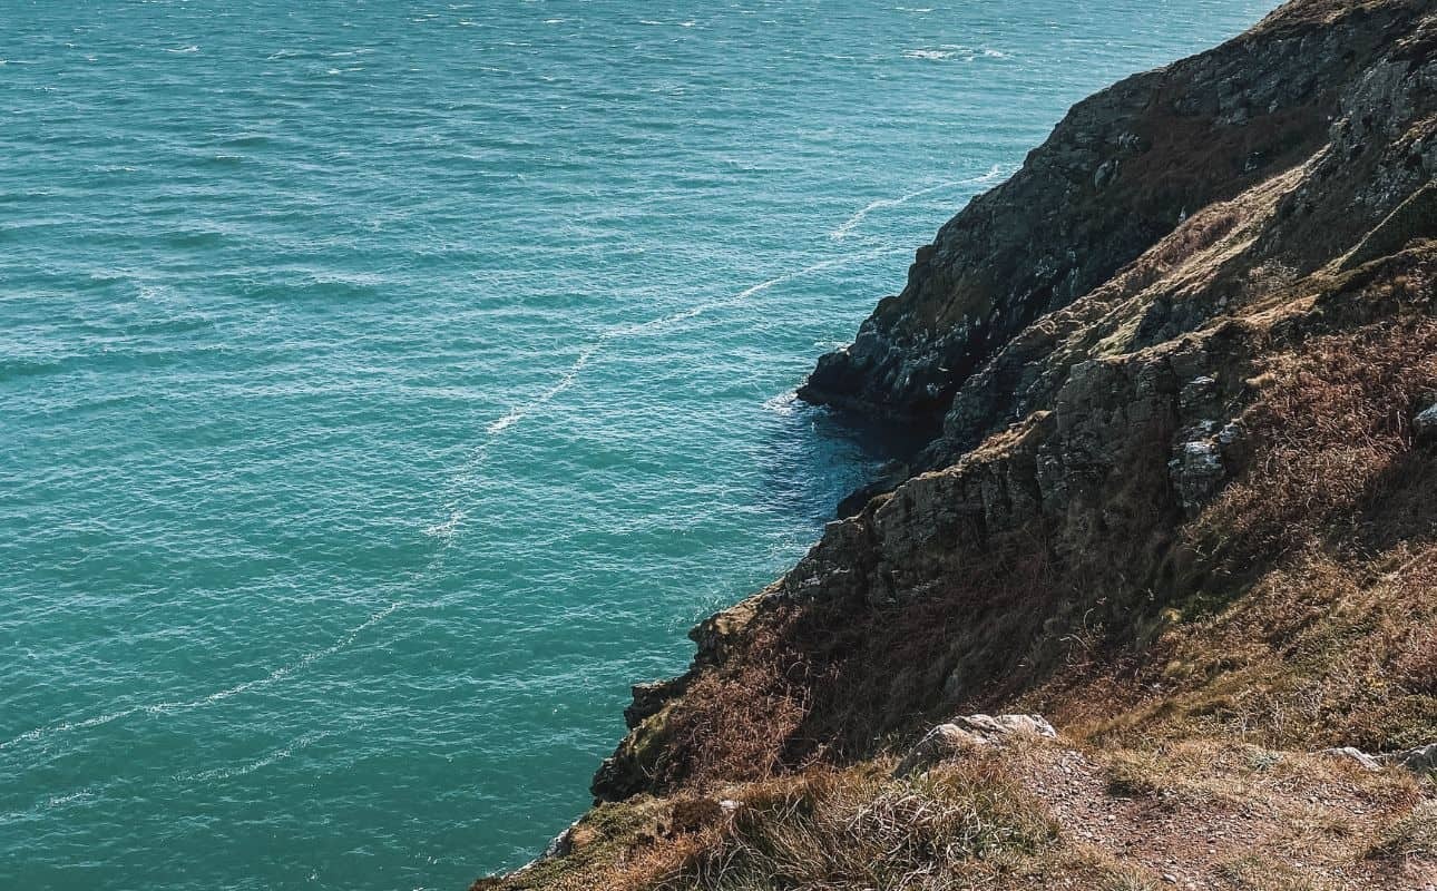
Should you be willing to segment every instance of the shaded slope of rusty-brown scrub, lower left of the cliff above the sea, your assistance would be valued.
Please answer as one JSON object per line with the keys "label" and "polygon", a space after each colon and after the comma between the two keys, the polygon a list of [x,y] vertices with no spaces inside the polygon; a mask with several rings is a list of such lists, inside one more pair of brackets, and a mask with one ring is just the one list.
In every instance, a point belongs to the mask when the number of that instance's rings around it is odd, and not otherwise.
{"label": "shaded slope of rusty-brown scrub, lower left of the cliff above the sea", "polygon": [[1013,642],[1042,635],[1066,586],[1046,550],[1007,540],[981,572],[918,598],[829,598],[754,619],[741,651],[700,673],[664,716],[655,786],[849,763],[925,729],[954,681],[1025,677],[1029,652]]}

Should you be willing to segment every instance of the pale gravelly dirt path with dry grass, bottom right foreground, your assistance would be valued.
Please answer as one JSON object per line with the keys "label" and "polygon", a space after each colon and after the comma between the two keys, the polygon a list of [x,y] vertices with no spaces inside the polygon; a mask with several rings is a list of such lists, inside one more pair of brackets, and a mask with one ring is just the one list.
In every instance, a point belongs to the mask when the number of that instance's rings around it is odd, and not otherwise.
{"label": "pale gravelly dirt path with dry grass, bottom right foreground", "polygon": [[1430,783],[1255,753],[1190,747],[1099,763],[1046,744],[1020,753],[1015,769],[1065,839],[1129,867],[1132,888],[1437,891],[1430,849],[1368,855],[1384,841],[1371,826],[1413,815]]}

